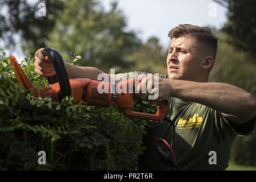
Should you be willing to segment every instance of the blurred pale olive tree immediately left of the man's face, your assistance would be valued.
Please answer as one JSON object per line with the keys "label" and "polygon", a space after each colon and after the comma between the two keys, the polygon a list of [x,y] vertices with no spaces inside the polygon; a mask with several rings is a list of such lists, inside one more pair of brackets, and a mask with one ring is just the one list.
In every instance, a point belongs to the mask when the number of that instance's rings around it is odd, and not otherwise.
{"label": "blurred pale olive tree immediately left of the man's face", "polygon": [[136,51],[128,55],[127,59],[134,63],[132,68],[134,71],[167,74],[167,52],[167,49],[160,46],[158,38],[151,37]]}

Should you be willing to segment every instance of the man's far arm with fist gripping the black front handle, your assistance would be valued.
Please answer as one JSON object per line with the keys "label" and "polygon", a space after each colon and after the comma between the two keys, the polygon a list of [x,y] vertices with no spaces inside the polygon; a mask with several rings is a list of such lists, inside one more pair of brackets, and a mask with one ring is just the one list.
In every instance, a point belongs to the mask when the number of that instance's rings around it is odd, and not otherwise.
{"label": "man's far arm with fist gripping the black front handle", "polygon": [[[55,70],[52,61],[48,56],[44,56],[42,51],[43,48],[40,48],[35,53],[35,72],[43,77],[54,76]],[[94,67],[77,67],[67,62],[64,62],[64,65],[69,78],[90,78],[91,80],[97,80],[98,75],[104,73]]]}

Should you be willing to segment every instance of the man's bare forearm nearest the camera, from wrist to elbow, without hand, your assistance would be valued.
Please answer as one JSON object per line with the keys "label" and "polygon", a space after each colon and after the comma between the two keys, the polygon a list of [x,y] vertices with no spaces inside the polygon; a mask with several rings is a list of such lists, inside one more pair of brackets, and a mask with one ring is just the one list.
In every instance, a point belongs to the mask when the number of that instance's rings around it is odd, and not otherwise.
{"label": "man's bare forearm nearest the camera, from wrist to elbow, without hand", "polygon": [[255,98],[237,86],[218,82],[170,80],[172,97],[197,102],[221,113],[250,119],[255,115]]}

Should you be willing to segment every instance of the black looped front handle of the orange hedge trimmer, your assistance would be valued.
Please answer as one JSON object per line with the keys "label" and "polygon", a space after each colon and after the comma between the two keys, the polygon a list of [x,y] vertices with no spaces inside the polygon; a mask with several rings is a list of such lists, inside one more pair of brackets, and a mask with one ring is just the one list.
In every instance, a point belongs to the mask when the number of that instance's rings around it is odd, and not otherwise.
{"label": "black looped front handle of the orange hedge trimmer", "polygon": [[60,90],[58,92],[59,101],[64,97],[71,95],[71,86],[69,84],[69,78],[64,66],[63,58],[55,48],[44,48],[43,55],[48,56],[52,60],[53,67],[55,69],[55,76],[48,77],[49,84],[55,84],[59,82]]}

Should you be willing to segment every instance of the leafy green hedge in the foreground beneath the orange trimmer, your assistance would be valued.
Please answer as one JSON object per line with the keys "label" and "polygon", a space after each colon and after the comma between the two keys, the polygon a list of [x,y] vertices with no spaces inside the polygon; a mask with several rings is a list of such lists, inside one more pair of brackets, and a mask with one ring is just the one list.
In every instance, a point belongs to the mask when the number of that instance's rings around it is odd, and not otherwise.
{"label": "leafy green hedge in the foreground beneath the orange trimmer", "polygon": [[[34,73],[31,57],[21,63],[34,85],[47,85]],[[116,107],[61,103],[35,98],[17,83],[10,60],[0,52],[0,170],[134,170],[146,129],[152,122],[127,117]],[[152,107],[136,105],[152,111]],[[46,151],[46,165],[38,152]]]}

